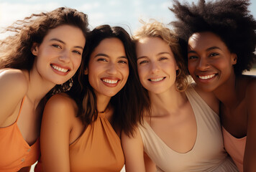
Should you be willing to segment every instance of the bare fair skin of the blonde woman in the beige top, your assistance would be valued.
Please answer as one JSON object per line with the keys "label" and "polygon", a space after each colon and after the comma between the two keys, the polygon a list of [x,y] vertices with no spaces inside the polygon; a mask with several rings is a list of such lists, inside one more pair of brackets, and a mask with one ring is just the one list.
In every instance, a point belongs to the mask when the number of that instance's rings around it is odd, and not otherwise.
{"label": "bare fair skin of the blonde woman in the beige top", "polygon": [[[140,82],[150,95],[152,116],[144,120],[154,132],[178,153],[191,151],[196,141],[196,119],[184,92],[175,89],[178,66],[169,45],[158,37],[144,37],[136,43]],[[196,92],[217,113],[218,101],[211,94]],[[156,171],[144,155],[140,131],[134,137],[122,134],[126,171]],[[146,164],[146,166],[145,166]]]}

